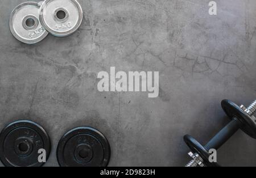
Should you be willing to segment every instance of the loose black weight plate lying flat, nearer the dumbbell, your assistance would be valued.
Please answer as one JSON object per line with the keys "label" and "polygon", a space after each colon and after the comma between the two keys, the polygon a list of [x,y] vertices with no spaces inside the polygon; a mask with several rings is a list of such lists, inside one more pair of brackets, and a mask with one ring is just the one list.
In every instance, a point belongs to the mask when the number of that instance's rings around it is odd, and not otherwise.
{"label": "loose black weight plate lying flat, nearer the dumbbell", "polygon": [[106,137],[89,127],[75,128],[60,139],[57,160],[61,167],[106,167],[110,146]]}

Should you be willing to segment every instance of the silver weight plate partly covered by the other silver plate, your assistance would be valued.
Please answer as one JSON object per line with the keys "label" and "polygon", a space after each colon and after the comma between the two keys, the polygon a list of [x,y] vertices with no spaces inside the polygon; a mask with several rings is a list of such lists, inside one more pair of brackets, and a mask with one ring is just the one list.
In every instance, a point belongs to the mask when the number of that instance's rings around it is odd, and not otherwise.
{"label": "silver weight plate partly covered by the other silver plate", "polygon": [[9,26],[16,39],[26,44],[34,44],[48,35],[39,22],[39,9],[40,3],[25,2],[11,12]]}

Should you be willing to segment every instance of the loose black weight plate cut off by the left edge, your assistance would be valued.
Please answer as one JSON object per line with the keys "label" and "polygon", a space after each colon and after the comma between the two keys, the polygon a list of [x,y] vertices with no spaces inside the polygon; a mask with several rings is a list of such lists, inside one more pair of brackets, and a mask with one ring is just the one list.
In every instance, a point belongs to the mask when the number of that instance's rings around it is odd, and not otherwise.
{"label": "loose black weight plate cut off by the left edge", "polygon": [[28,120],[15,121],[0,134],[0,159],[7,167],[40,167],[38,150],[49,157],[51,142],[42,126]]}

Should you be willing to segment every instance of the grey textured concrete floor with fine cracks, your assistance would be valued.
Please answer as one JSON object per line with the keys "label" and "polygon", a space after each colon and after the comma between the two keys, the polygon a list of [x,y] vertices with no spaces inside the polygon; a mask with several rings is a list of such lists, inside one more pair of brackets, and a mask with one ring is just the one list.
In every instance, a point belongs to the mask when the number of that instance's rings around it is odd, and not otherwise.
{"label": "grey textured concrete floor with fine cracks", "polygon": [[[256,98],[256,2],[84,0],[74,35],[22,44],[9,15],[24,1],[0,6],[0,128],[31,118],[52,140],[46,166],[57,166],[60,137],[93,126],[112,147],[110,166],[183,166],[184,134],[202,143],[227,122],[222,99]],[[98,92],[97,74],[159,71],[159,98],[141,92]],[[223,166],[256,166],[256,141],[237,132],[219,151]],[[253,156],[252,156],[253,155]]]}

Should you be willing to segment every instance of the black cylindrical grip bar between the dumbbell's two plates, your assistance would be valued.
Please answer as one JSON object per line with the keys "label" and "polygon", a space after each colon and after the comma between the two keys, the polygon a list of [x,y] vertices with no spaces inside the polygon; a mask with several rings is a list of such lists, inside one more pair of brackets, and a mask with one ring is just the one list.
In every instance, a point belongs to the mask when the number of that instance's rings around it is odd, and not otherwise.
{"label": "black cylindrical grip bar between the dumbbell's two plates", "polygon": [[218,132],[210,141],[205,145],[205,149],[218,150],[237,130],[240,129],[240,121],[234,118],[229,122],[220,132]]}

